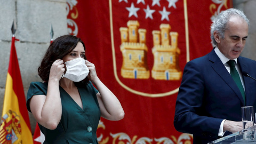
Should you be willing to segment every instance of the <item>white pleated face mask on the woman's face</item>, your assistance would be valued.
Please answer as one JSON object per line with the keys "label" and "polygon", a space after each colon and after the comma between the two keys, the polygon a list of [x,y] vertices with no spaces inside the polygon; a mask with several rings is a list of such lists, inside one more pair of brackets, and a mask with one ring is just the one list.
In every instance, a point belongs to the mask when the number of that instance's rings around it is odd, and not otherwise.
{"label": "white pleated face mask on the woman's face", "polygon": [[85,65],[83,58],[77,58],[64,63],[67,70],[66,74],[62,77],[66,77],[73,82],[80,82],[89,74],[89,68]]}

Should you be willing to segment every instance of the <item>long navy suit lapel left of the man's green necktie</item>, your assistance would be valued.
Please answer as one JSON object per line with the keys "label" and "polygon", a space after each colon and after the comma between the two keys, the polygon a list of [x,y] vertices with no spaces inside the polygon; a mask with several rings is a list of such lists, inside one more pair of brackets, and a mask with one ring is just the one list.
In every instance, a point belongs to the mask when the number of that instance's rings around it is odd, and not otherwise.
{"label": "long navy suit lapel left of the man's green necktie", "polygon": [[234,79],[228,73],[226,67],[223,65],[220,58],[215,53],[214,49],[209,53],[209,60],[211,62],[213,62],[212,68],[216,71],[216,73],[218,73],[218,75],[223,79],[223,81],[226,82],[226,84],[230,87],[230,89],[232,89],[236,93],[236,95],[239,98],[239,100],[241,101],[242,105],[244,105],[243,104],[244,100],[243,100],[241,92],[239,91]]}

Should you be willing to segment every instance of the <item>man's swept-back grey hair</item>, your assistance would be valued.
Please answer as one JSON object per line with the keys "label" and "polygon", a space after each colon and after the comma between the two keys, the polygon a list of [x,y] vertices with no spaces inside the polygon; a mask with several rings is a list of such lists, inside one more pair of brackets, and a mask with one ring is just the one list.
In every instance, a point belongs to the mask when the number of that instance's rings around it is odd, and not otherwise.
{"label": "man's swept-back grey hair", "polygon": [[217,45],[217,42],[214,39],[213,32],[215,30],[217,30],[218,33],[219,33],[219,36],[221,38],[224,38],[225,30],[228,29],[227,23],[228,23],[231,16],[237,16],[237,17],[240,17],[240,18],[244,19],[247,22],[248,26],[249,26],[249,20],[247,19],[246,15],[242,11],[237,10],[237,9],[233,9],[233,8],[222,11],[212,21],[212,25],[211,25],[211,39],[212,39],[212,43],[214,45]]}

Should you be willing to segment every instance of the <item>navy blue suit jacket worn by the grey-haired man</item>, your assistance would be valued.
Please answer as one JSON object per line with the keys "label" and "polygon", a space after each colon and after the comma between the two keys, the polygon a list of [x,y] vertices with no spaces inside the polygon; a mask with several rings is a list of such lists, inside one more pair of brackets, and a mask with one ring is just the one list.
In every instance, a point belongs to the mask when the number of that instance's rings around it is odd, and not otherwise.
{"label": "navy blue suit jacket worn by the grey-haired man", "polygon": [[[241,71],[256,78],[256,61],[239,57],[237,62]],[[246,106],[253,106],[255,113],[256,81],[245,76],[243,79]],[[223,119],[242,121],[242,106],[241,92],[213,49],[186,64],[175,106],[174,127],[193,134],[194,143],[207,143],[218,139]],[[226,131],[225,135],[228,134],[231,133]]]}

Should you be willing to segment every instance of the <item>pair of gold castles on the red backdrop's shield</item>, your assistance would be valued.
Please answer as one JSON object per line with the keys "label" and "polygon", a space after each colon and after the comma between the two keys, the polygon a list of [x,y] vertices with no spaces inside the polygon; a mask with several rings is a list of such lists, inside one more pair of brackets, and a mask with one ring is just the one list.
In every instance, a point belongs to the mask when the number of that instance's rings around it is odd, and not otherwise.
{"label": "pair of gold castles on the red backdrop's shield", "polygon": [[[139,26],[138,21],[130,20],[127,22],[128,28],[119,29],[122,43],[120,49],[123,54],[121,76],[124,78],[148,79],[150,76],[147,65],[147,30],[139,29]],[[169,24],[162,23],[160,29],[161,31],[152,31],[154,65],[151,77],[161,80],[179,80],[182,74],[179,67],[178,33],[170,32]]]}

